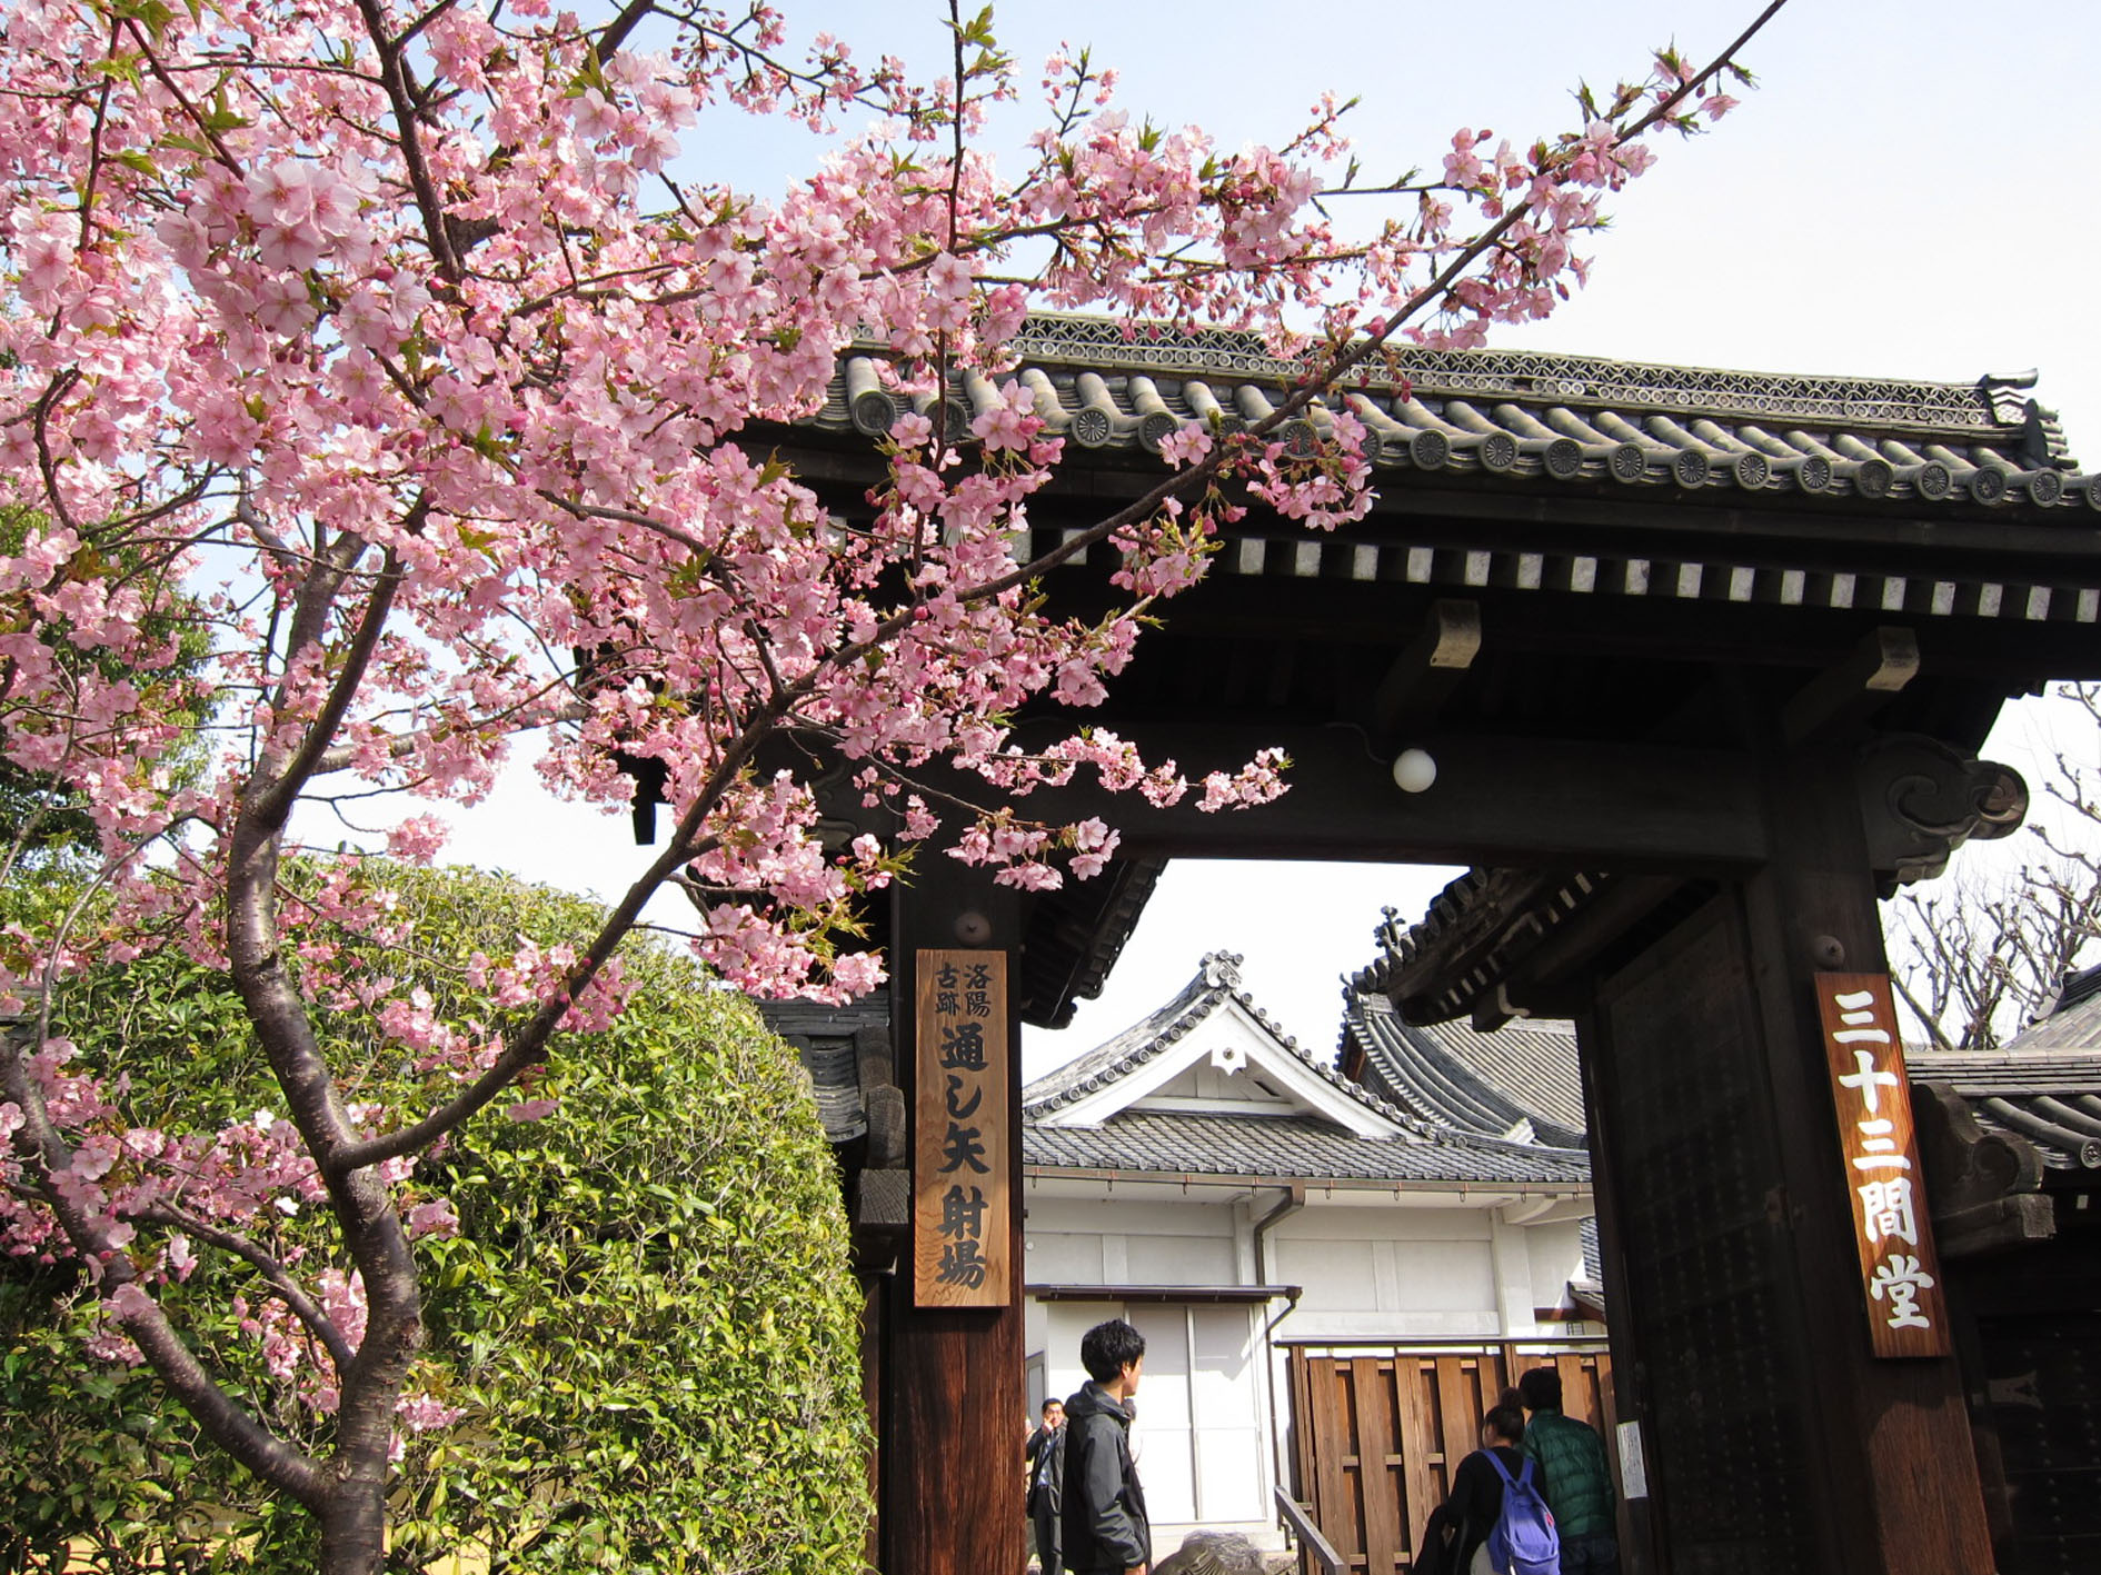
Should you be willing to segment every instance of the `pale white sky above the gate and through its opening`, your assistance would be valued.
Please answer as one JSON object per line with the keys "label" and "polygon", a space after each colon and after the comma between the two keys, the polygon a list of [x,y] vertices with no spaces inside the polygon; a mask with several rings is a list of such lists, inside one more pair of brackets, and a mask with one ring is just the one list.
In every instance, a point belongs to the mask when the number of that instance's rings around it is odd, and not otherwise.
{"label": "pale white sky above the gate and through its opening", "polygon": [[[927,4],[782,0],[796,36],[857,55],[945,57]],[[969,8],[975,8],[969,6]],[[1093,44],[1122,103],[1198,122],[1221,145],[1277,141],[1322,88],[1359,94],[1370,174],[1435,168],[1452,130],[1513,141],[1572,124],[1578,78],[1609,86],[1672,36],[1706,59],[1752,0],[1685,4],[1502,0],[1280,6],[1275,0],[1000,8],[1023,67]],[[1710,136],[1666,141],[1658,166],[1584,248],[1593,284],[1553,321],[1498,344],[1761,372],[1975,380],[2040,368],[2074,452],[2101,464],[2101,6],[2086,0],[1792,0],[1746,52],[1761,90]],[[1032,82],[1034,76],[1025,74]],[[767,193],[807,168],[809,141],[748,122],[704,126],[716,178]],[[721,134],[714,134],[721,132]],[[2078,527],[2086,527],[2080,521]],[[2009,714],[1996,758],[2030,769],[2046,712]],[[2030,781],[2040,781],[2040,766]],[[626,817],[555,804],[515,773],[464,817],[448,857],[611,895],[641,867]],[[1332,1048],[1338,976],[1372,958],[1387,903],[1416,918],[1452,872],[1368,865],[1177,865],[1101,1002],[1061,1035],[1032,1033],[1027,1075],[1093,1048],[1172,993],[1208,949],[1309,1050]]]}

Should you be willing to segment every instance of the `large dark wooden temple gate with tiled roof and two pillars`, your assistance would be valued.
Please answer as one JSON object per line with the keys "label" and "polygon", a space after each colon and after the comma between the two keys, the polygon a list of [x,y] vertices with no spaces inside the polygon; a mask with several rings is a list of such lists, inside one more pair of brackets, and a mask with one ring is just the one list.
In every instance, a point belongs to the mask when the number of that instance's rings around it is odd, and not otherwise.
{"label": "large dark wooden temple gate with tiled roof and two pillars", "polygon": [[[964,1180],[998,1197],[981,1231],[1019,1264],[1019,1025],[1099,989],[1166,859],[1277,857],[1473,865],[1393,937],[1382,987],[1414,1021],[1578,1023],[1614,1411],[1639,1422],[1649,1485],[1630,1569],[1992,1569],[1958,1361],[1916,1336],[1931,1178],[1882,1107],[1840,1098],[1901,1065],[1834,1071],[1882,1031],[1857,989],[1887,972],[1878,895],[2023,815],[2019,777],[1975,760],[2000,704],[2101,678],[2101,481],[2004,380],[1530,353],[1410,353],[1399,372],[1345,399],[1376,437],[1368,521],[1315,536],[1250,510],[1107,706],[1023,718],[1109,727],[1189,775],[1284,746],[1292,792],[1237,815],[1042,794],[1044,819],[1122,830],[1103,878],[1021,897],[929,859],[876,916],[889,1002],[790,1025],[834,1048],[819,1094],[861,1113],[878,1562],[1021,1567],[1021,1277],[992,1306],[935,1304],[941,1250],[914,1239],[941,1228],[912,1170],[914,1149],[922,1168],[945,1153],[922,1124],[977,1092],[929,1082],[924,970],[1000,964],[1008,1010],[983,1044],[1006,1132],[973,1142],[1006,1174]],[[1040,319],[1019,376],[1067,439],[1029,512],[1044,550],[1151,485],[1179,422],[1261,418],[1294,368],[1229,334],[1126,344]],[[958,384],[952,430],[987,397]],[[901,407],[849,357],[784,458],[866,517],[870,437]],[[1284,439],[1319,443],[1324,420]],[[1046,592],[1107,605],[1111,569],[1095,548]],[[866,813],[840,794],[836,815]],[[1819,976],[1851,1004],[1822,1004]],[[1876,1235],[1895,1233],[1895,1180],[1918,1186],[1904,1241]],[[1906,1354],[1878,1354],[1893,1317]]]}

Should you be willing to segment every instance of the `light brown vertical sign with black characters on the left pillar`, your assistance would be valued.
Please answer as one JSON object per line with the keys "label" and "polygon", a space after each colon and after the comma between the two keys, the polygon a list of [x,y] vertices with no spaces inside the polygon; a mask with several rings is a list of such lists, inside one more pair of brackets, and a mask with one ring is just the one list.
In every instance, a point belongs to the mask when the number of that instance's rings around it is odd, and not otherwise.
{"label": "light brown vertical sign with black characters on the left pillar", "polygon": [[1006,953],[918,953],[912,1296],[1006,1306]]}

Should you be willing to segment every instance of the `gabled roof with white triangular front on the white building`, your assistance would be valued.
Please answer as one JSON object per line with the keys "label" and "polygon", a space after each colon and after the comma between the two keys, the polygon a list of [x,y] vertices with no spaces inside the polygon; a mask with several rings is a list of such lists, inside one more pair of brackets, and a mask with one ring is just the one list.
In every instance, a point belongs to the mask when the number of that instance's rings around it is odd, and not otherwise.
{"label": "gabled roof with white triangular front on the white building", "polygon": [[[1147,1105],[1202,1063],[1282,1090],[1273,1111],[1200,1100]],[[1578,1149],[1454,1130],[1410,1115],[1309,1056],[1240,989],[1240,958],[1212,951],[1164,1006],[1021,1090],[1023,1157],[1036,1170],[1298,1182],[1565,1182]]]}

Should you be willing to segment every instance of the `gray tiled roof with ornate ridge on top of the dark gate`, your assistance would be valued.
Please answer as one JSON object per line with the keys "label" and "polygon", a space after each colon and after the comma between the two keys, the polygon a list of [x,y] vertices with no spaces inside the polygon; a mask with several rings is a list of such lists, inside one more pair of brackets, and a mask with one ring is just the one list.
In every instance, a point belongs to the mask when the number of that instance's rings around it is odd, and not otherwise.
{"label": "gray tiled roof with ornate ridge on top of the dark gate", "polygon": [[[880,435],[931,397],[885,386],[887,357],[847,355],[813,424]],[[1303,365],[1223,330],[1034,317],[998,380],[964,374],[954,426],[1019,378],[1048,426],[1082,449],[1158,452],[1183,422],[1227,430],[1282,403]],[[1780,376],[1538,351],[1401,351],[1336,403],[1372,435],[1374,470],[1490,472],[1614,483],[1819,494],[2006,510],[2101,508],[2101,477],[2074,475],[2027,378],[1975,384]],[[1311,445],[1332,428],[1315,405],[1280,437]]]}

